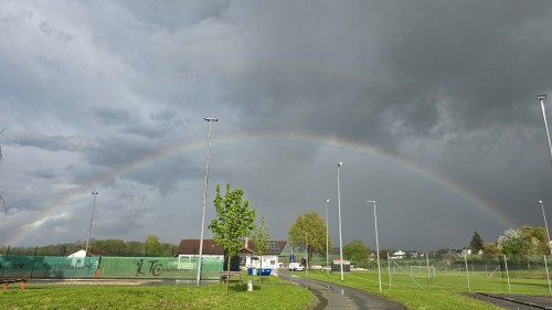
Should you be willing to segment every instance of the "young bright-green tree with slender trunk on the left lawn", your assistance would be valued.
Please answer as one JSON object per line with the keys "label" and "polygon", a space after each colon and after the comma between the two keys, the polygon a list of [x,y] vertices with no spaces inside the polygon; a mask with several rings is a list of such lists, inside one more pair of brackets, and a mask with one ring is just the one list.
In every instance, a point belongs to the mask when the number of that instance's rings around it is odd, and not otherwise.
{"label": "young bright-green tree with slender trunk on the left lawn", "polygon": [[244,192],[236,188],[230,190],[230,184],[226,184],[226,193],[221,196],[221,185],[216,185],[216,195],[214,197],[214,207],[216,217],[211,220],[209,228],[213,232],[214,242],[220,245],[226,253],[227,275],[226,275],[226,295],[230,293],[230,261],[234,257],[240,247],[242,247],[242,238],[248,236],[251,231],[255,228],[255,210],[250,210],[250,202],[243,201]]}

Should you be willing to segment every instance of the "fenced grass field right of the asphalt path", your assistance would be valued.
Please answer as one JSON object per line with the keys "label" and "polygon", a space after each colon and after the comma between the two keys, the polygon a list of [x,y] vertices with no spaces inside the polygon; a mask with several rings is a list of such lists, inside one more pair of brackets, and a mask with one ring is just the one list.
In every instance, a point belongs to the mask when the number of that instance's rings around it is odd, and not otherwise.
{"label": "fenced grass field right of the asphalt path", "polygon": [[437,274],[428,281],[427,277],[408,277],[403,272],[392,272],[391,288],[389,272],[382,270],[382,292],[379,292],[378,274],[372,271],[353,271],[344,275],[333,272],[326,276],[323,271],[309,271],[309,278],[354,287],[364,291],[381,293],[408,307],[408,309],[499,309],[489,303],[465,297],[464,292],[509,292],[549,296],[546,279],[507,279],[488,277],[486,272],[471,272],[469,287],[466,275],[461,272]]}

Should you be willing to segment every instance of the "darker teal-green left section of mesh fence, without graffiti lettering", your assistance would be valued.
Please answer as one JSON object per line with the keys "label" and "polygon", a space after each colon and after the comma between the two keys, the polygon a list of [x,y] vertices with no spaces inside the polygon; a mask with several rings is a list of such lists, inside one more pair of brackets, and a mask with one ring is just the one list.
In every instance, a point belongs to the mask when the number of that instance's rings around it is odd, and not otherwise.
{"label": "darker teal-green left section of mesh fence, without graffiti lettering", "polygon": [[2,278],[91,278],[99,263],[98,257],[67,258],[52,256],[0,256]]}

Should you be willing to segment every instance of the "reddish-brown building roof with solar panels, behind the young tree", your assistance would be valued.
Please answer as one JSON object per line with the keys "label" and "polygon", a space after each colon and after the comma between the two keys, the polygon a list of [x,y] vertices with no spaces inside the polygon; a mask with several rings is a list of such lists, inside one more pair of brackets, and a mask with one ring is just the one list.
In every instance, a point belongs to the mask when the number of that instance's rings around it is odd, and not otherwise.
{"label": "reddish-brown building roof with solar panels, behind the young tree", "polygon": [[[286,240],[267,240],[268,247],[265,255],[279,255],[286,246]],[[240,249],[241,253],[256,253],[256,247],[248,238],[244,239],[244,246]],[[182,239],[177,249],[179,254],[193,254],[200,252],[200,239]],[[223,255],[224,249],[213,239],[203,239],[203,255]]]}

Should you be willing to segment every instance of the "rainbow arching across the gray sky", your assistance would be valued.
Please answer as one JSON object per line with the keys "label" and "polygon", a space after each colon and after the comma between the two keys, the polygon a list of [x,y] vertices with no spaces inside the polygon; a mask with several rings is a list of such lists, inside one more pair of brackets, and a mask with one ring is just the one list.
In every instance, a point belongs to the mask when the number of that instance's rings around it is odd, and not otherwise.
{"label": "rainbow arching across the gray sky", "polygon": [[[491,218],[495,218],[498,221],[500,224],[505,225],[506,227],[514,227],[516,225],[513,224],[512,221],[510,221],[508,217],[503,216],[496,207],[490,205],[489,203],[485,202],[484,200],[475,196],[467,190],[463,189],[458,184],[434,173],[429,169],[422,168],[421,165],[407,161],[403,158],[393,156],[388,152],[383,152],[379,150],[378,148],[370,147],[367,145],[362,145],[359,142],[352,142],[352,141],[346,141],[346,140],[337,140],[333,138],[328,138],[328,137],[321,137],[321,136],[314,136],[314,135],[302,135],[302,133],[257,133],[257,135],[226,135],[226,136],[220,136],[220,137],[213,137],[212,143],[213,146],[220,145],[220,143],[240,143],[240,142],[266,142],[266,141],[283,141],[283,142],[296,142],[296,143],[315,143],[315,145],[322,145],[325,147],[330,147],[330,148],[336,148],[336,149],[346,149],[349,151],[354,151],[359,153],[365,153],[369,156],[376,157],[379,159],[382,159],[384,161],[388,161],[393,164],[399,164],[400,167],[407,169],[415,174],[420,174],[423,178],[425,178],[428,181],[432,181],[433,183],[444,186],[459,196],[461,196],[464,200],[468,201],[470,204],[477,206],[485,213],[487,213]],[[195,140],[187,143],[181,143],[173,146],[171,148],[167,148],[163,150],[160,150],[158,152],[145,154],[144,157],[134,160],[131,162],[128,162],[126,164],[119,165],[116,169],[113,169],[98,178],[83,183],[81,186],[72,190],[71,192],[66,193],[65,195],[61,196],[57,201],[55,201],[52,205],[49,207],[45,207],[38,216],[38,220],[22,226],[20,229],[14,232],[12,235],[8,236],[6,239],[6,245],[17,245],[18,242],[26,237],[28,235],[32,234],[36,229],[41,227],[42,224],[47,222],[50,218],[54,217],[62,211],[71,207],[72,202],[83,197],[84,195],[88,196],[91,191],[95,190],[97,185],[102,185],[104,183],[107,183],[109,181],[113,181],[119,177],[123,177],[129,172],[132,172],[135,170],[139,170],[144,167],[147,167],[149,164],[152,164],[157,161],[180,154],[180,153],[185,153],[190,152],[192,150],[200,150],[200,149],[206,148],[206,141],[204,139],[201,140]]]}

